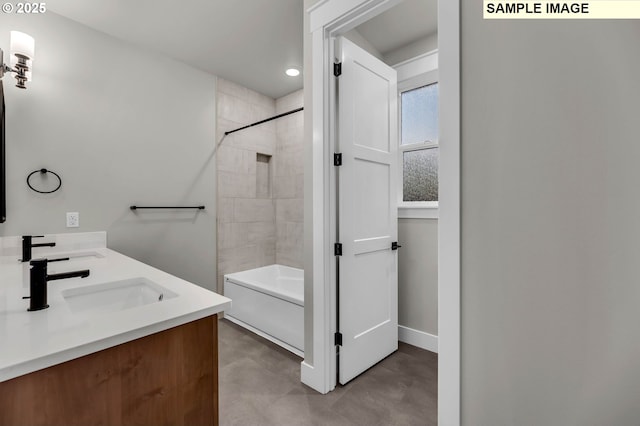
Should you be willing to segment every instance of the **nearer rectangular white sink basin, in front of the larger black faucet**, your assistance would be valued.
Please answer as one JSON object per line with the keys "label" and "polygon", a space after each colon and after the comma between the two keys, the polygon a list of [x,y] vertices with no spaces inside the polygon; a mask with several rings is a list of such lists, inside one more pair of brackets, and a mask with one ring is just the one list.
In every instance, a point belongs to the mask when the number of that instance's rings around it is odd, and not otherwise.
{"label": "nearer rectangular white sink basin, in front of the larger black faucet", "polygon": [[178,295],[146,278],[130,278],[62,291],[62,297],[74,314],[118,312]]}

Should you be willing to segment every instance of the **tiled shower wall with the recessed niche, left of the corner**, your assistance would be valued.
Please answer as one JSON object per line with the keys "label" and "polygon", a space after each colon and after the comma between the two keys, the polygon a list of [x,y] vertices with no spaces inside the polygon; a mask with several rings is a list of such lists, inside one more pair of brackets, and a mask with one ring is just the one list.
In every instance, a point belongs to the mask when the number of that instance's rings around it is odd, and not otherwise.
{"label": "tiled shower wall with the recessed niche, left of the corner", "polygon": [[[273,99],[218,79],[218,141],[227,130],[275,115]],[[233,133],[218,147],[218,291],[231,272],[276,261],[275,206],[266,182],[265,164],[273,170],[276,123]],[[262,154],[259,156],[258,154]],[[263,161],[271,156],[268,163]],[[269,176],[269,173],[266,173]],[[260,182],[258,183],[258,176]],[[260,196],[259,196],[260,195]]]}

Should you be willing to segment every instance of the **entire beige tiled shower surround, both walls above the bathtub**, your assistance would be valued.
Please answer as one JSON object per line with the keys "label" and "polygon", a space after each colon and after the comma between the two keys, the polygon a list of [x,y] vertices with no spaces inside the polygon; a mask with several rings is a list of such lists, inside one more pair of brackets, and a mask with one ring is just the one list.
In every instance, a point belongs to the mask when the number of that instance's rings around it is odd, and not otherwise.
{"label": "entire beige tiled shower surround, both walls above the bathtub", "polygon": [[[302,91],[275,101],[223,79],[217,95],[218,141],[302,106]],[[218,147],[219,292],[224,274],[274,263],[302,268],[302,116],[233,133]]]}

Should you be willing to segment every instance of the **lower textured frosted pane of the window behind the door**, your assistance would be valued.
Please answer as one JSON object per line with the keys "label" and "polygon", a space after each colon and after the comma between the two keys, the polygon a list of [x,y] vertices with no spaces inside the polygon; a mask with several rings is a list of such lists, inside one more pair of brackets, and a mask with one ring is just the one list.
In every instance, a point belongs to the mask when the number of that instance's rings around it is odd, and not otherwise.
{"label": "lower textured frosted pane of the window behind the door", "polygon": [[439,148],[403,153],[403,201],[438,201]]}

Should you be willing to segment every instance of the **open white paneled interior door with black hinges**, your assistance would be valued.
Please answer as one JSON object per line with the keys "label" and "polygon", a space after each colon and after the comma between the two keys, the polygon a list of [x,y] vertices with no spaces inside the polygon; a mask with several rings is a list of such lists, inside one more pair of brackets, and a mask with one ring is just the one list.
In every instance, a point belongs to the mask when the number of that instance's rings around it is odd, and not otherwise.
{"label": "open white paneled interior door with black hinges", "polygon": [[339,381],[398,349],[396,71],[338,41]]}

